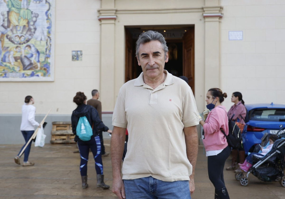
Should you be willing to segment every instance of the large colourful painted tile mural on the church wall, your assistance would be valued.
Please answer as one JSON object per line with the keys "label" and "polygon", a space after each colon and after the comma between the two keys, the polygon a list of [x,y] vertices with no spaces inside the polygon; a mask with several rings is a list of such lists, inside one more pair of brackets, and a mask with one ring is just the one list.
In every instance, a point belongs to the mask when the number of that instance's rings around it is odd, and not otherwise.
{"label": "large colourful painted tile mural on the church wall", "polygon": [[0,81],[53,81],[53,0],[0,0]]}

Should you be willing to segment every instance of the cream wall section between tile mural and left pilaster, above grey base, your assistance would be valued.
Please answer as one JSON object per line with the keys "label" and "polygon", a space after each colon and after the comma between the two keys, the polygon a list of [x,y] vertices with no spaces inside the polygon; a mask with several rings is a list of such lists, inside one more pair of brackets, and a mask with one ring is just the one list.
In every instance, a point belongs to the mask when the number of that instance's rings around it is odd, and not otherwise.
{"label": "cream wall section between tile mural and left pilaster, above grey base", "polygon": [[[35,99],[36,113],[71,114],[76,92],[91,98],[100,89],[100,1],[55,1],[54,82],[0,82],[0,114],[21,113],[25,96]],[[83,51],[83,61],[71,61],[72,50]],[[104,77],[102,77],[104,78]],[[105,77],[106,78],[106,77]]]}

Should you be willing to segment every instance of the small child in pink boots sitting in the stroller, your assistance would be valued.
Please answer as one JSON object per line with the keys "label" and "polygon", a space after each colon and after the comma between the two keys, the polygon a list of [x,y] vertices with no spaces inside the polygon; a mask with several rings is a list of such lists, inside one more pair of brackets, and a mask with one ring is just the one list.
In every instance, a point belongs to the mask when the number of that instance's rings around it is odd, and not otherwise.
{"label": "small child in pink boots sitting in the stroller", "polygon": [[249,168],[253,165],[253,155],[257,156],[257,157],[263,157],[265,154],[267,154],[268,152],[270,152],[270,150],[272,149],[273,143],[278,140],[279,137],[277,135],[269,135],[269,145],[264,149],[261,145],[260,145],[260,151],[261,153],[250,153],[246,158],[244,163],[240,164],[239,163],[239,167],[241,168],[241,170],[247,172],[249,170]]}

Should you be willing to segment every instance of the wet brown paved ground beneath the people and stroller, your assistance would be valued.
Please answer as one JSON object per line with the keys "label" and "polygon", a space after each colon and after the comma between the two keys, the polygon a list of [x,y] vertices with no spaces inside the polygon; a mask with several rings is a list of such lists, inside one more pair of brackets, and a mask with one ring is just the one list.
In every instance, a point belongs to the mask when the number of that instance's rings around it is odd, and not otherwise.
{"label": "wet brown paved ground beneath the people and stroller", "polygon": [[[110,151],[110,139],[105,138],[106,151]],[[32,167],[22,167],[14,162],[21,145],[0,145],[0,199],[15,198],[96,198],[115,199],[109,190],[96,188],[94,161],[89,157],[88,184],[82,190],[79,172],[80,157],[75,144],[46,144],[43,148],[32,144],[29,161]],[[23,156],[21,157],[23,163]],[[231,163],[231,157],[225,167]],[[112,185],[111,158],[103,157],[105,183]],[[235,180],[233,171],[224,171],[225,183],[231,199],[285,199],[285,188],[278,182],[265,183],[250,175],[250,183],[244,187]],[[199,146],[195,169],[196,190],[192,199],[214,198],[214,187],[208,179],[207,157]]]}

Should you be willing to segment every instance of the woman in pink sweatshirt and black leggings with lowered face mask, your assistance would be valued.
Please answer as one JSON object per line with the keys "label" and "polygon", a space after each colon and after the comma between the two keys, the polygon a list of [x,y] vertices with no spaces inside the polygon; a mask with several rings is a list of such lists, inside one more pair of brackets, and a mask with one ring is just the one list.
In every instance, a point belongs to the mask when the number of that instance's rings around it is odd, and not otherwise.
{"label": "woman in pink sweatshirt and black leggings with lowered face mask", "polygon": [[219,88],[211,88],[206,94],[207,108],[210,110],[205,122],[200,119],[203,126],[203,144],[208,157],[208,175],[215,186],[215,198],[229,199],[225,186],[223,170],[225,161],[231,153],[231,148],[221,129],[229,133],[227,110],[221,103],[227,97]]}

